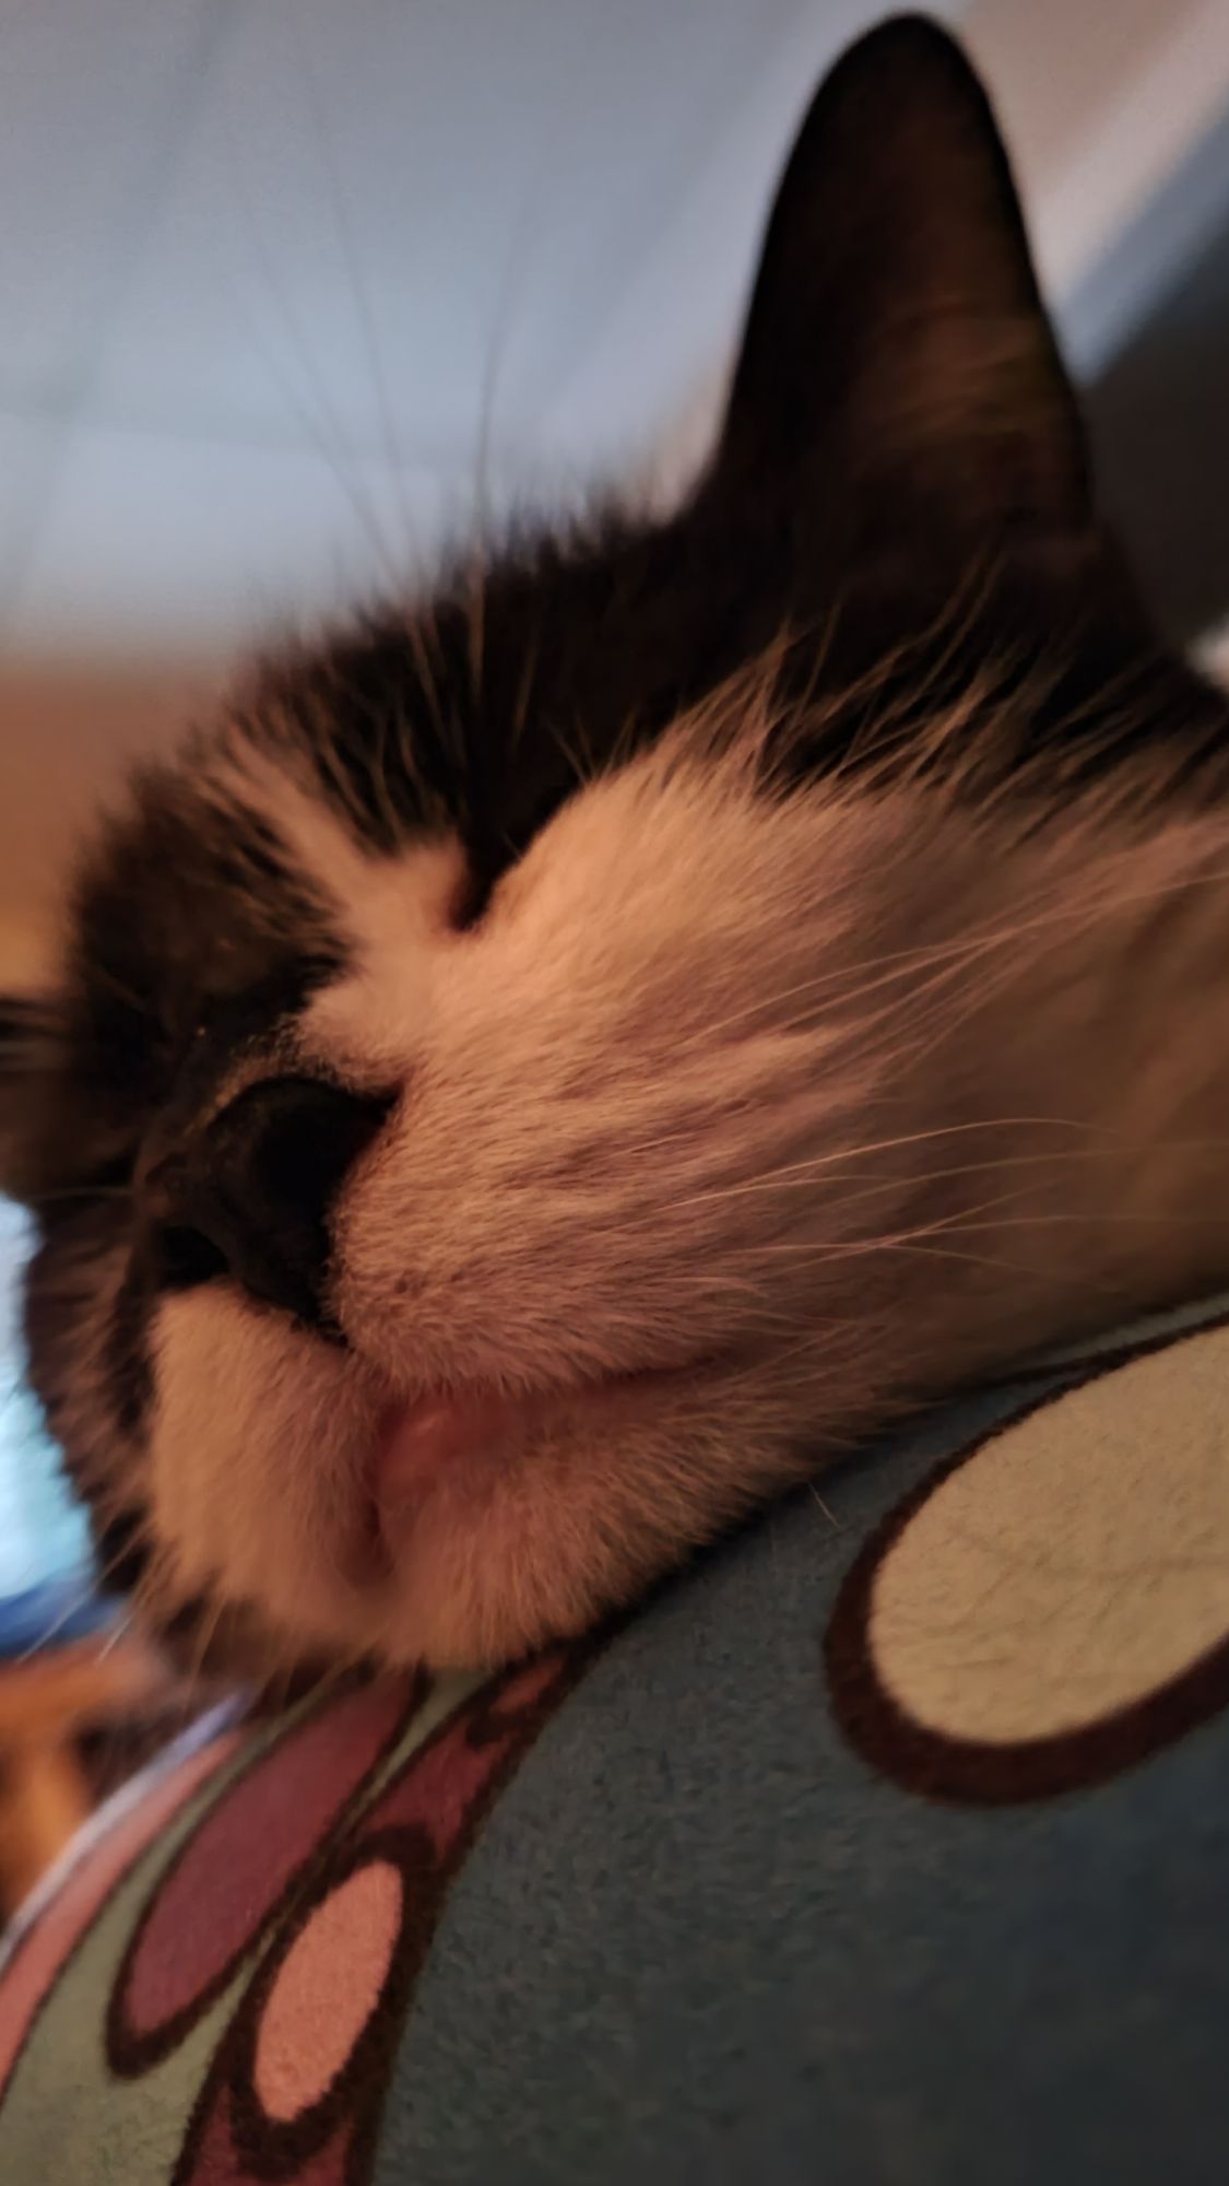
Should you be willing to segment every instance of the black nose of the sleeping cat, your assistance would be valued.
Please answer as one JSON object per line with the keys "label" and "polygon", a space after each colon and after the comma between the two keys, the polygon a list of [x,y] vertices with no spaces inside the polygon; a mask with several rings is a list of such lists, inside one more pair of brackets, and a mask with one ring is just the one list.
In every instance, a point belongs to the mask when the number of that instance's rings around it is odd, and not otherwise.
{"label": "black nose of the sleeping cat", "polygon": [[319,1078],[238,1093],[140,1185],[155,1281],[190,1290],[230,1274],[254,1298],[328,1327],[328,1211],[389,1104]]}

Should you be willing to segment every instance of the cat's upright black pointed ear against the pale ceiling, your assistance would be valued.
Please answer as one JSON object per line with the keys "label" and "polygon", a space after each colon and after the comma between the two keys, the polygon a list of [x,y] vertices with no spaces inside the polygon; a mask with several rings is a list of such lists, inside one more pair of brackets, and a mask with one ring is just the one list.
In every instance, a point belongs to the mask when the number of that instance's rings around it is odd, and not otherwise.
{"label": "cat's upright black pointed ear against the pale ceiling", "polygon": [[1082,433],[1010,166],[953,39],[901,15],[807,114],[770,216],[717,477],[859,522],[1082,527]]}

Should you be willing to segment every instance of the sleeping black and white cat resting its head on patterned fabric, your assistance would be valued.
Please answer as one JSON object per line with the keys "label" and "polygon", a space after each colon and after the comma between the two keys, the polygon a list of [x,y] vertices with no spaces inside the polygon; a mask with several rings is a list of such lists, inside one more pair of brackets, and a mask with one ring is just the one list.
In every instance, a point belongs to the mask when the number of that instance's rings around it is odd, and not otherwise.
{"label": "sleeping black and white cat resting its head on patterned fabric", "polygon": [[114,1583],[236,1659],[499,1664],[1222,1279],[1227,730],[897,17],[684,505],[284,647],[85,850],[0,1139]]}

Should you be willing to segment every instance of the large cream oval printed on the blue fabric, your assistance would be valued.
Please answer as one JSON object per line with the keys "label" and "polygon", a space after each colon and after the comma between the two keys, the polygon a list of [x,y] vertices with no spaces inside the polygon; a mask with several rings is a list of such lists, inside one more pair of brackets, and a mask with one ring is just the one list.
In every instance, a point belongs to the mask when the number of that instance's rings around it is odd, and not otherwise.
{"label": "large cream oval printed on the blue fabric", "polygon": [[986,1441],[875,1574],[870,1657],[945,1738],[1054,1738],[1229,1637],[1229,1329],[1085,1382]]}

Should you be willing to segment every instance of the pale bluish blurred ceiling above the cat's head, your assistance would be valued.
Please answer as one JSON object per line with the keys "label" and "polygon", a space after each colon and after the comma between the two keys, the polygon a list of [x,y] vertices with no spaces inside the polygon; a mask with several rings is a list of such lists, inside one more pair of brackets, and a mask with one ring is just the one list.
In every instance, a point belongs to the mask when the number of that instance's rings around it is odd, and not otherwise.
{"label": "pale bluish blurred ceiling above the cat's head", "polygon": [[[212,654],[702,428],[855,0],[0,0],[9,658]],[[1076,348],[1225,0],[980,0]],[[1146,271],[1146,269],[1144,269]],[[1139,273],[1139,280],[1144,273]]]}

